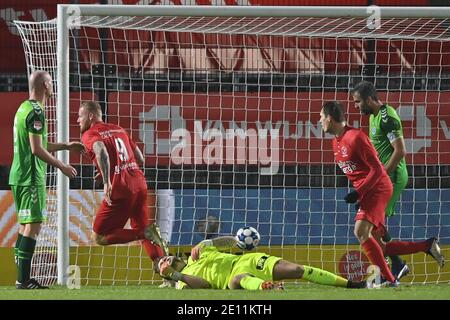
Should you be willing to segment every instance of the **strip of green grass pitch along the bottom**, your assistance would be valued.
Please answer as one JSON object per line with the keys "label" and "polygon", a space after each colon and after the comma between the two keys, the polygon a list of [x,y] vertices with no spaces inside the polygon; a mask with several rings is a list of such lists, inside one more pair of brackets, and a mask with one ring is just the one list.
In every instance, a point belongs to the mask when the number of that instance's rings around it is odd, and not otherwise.
{"label": "strip of green grass pitch along the bottom", "polygon": [[85,286],[69,290],[17,290],[0,287],[1,300],[449,300],[450,285],[407,285],[399,288],[350,290],[313,284],[288,284],[284,291],[175,290],[156,285]]}

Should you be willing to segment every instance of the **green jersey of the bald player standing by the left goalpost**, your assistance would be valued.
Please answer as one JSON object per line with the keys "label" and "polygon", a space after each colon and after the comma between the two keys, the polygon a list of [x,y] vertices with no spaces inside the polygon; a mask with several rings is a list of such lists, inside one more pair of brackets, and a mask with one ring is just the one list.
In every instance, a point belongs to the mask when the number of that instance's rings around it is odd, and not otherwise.
{"label": "green jersey of the bald player standing by the left goalpost", "polygon": [[24,101],[14,117],[14,159],[9,184],[14,186],[45,186],[47,164],[32,154],[29,135],[41,135],[47,149],[47,121],[44,108],[35,100]]}

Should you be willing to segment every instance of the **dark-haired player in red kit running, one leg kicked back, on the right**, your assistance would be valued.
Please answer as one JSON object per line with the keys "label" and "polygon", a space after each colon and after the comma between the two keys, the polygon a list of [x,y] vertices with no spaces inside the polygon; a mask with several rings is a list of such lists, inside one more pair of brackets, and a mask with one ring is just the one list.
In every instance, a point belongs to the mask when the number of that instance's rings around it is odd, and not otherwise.
{"label": "dark-haired player in red kit running, one leg kicked back, on the right", "polygon": [[336,163],[356,189],[345,200],[359,201],[354,233],[370,262],[380,268],[382,276],[393,286],[397,286],[398,281],[389,270],[384,253],[402,255],[422,251],[430,254],[443,267],[445,259],[436,238],[420,242],[384,243],[381,240],[386,230],[385,209],[393,187],[375,148],[363,131],[346,125],[342,105],[337,101],[323,105],[320,123],[324,132],[335,135],[333,152]]}

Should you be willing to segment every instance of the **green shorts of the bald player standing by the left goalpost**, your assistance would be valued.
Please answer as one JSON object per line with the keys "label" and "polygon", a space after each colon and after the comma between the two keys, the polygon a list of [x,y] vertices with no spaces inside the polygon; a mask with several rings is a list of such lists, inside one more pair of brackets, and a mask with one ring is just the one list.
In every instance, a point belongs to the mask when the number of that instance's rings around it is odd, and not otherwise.
{"label": "green shorts of the bald player standing by the left goalpost", "polygon": [[47,219],[45,186],[11,186],[20,224],[44,222]]}

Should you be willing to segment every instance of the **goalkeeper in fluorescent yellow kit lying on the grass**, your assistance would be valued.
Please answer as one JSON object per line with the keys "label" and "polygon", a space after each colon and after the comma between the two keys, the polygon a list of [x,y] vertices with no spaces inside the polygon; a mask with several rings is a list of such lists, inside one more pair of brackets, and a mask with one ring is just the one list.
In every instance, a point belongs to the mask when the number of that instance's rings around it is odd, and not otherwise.
{"label": "goalkeeper in fluorescent yellow kit lying on the grass", "polygon": [[354,282],[331,272],[297,265],[265,253],[235,255],[219,252],[238,241],[232,236],[204,240],[191,250],[187,264],[180,258],[164,256],[155,260],[155,271],[177,281],[177,288],[191,289],[283,289],[281,280],[304,279],[343,288],[365,288],[365,281]]}

